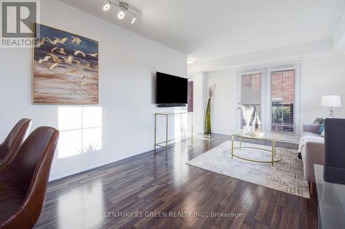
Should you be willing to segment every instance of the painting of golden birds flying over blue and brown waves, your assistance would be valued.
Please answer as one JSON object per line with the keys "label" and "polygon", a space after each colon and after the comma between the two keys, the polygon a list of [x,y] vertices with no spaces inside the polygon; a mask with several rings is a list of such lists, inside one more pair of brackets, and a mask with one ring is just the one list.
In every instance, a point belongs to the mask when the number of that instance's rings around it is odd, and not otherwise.
{"label": "painting of golden birds flying over blue and brown waves", "polygon": [[99,103],[98,41],[36,23],[32,103]]}

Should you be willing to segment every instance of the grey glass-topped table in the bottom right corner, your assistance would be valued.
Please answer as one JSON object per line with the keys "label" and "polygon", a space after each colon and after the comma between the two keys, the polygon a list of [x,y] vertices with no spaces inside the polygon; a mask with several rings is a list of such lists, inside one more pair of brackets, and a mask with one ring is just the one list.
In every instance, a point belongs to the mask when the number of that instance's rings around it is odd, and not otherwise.
{"label": "grey glass-topped table in the bottom right corner", "polygon": [[[322,228],[345,228],[345,184],[326,182],[322,165],[315,164],[314,171]],[[336,173],[344,177],[345,170],[337,168]]]}

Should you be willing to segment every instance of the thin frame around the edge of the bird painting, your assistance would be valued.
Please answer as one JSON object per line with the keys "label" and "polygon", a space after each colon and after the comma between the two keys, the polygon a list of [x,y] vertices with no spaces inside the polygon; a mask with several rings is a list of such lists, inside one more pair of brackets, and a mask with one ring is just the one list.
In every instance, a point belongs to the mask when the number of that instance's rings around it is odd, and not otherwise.
{"label": "thin frame around the edge of the bird painting", "polygon": [[[65,34],[70,34],[70,35],[74,35],[77,38],[83,39],[85,41],[85,39],[87,41],[90,42],[94,42],[96,44],[96,49],[97,49],[97,74],[95,75],[97,80],[96,83],[94,85],[96,85],[97,89],[93,89],[94,92],[96,92],[95,94],[95,99],[92,99],[92,101],[74,101],[74,100],[68,100],[68,101],[56,101],[56,102],[52,102],[50,100],[47,101],[37,101],[37,75],[35,73],[37,73],[35,71],[35,61],[37,61],[37,55],[36,55],[36,49],[37,49],[37,43],[39,43],[39,41],[41,41],[41,34],[37,34],[37,27],[41,26],[41,27],[45,27],[45,28],[49,28],[50,30],[56,30],[57,32],[62,32]],[[33,45],[32,45],[32,77],[31,77],[31,84],[32,84],[32,105],[99,105],[99,87],[100,87],[100,80],[99,80],[99,41],[96,41],[94,39],[90,39],[86,36],[81,36],[79,34],[75,34],[72,32],[68,32],[66,30],[61,30],[55,27],[52,27],[50,25],[44,25],[42,23],[34,23],[34,40],[36,41]],[[95,54],[96,54],[95,53]],[[85,56],[84,56],[85,58]],[[90,66],[90,65],[89,65]]]}

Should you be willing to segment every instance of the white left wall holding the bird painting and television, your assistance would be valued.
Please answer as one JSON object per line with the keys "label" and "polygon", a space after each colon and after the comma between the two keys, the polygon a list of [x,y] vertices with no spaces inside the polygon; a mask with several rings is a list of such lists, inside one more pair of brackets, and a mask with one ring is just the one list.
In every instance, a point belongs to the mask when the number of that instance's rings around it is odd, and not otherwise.
{"label": "white left wall holding the bird painting and television", "polygon": [[[50,179],[153,149],[153,114],[175,111],[155,107],[155,72],[187,77],[186,56],[60,1],[41,1],[41,23],[99,41],[100,53],[95,107],[101,107],[101,149],[63,158],[55,153]],[[32,50],[0,49],[0,54],[0,139],[23,117],[32,118],[32,129],[58,127],[59,106],[31,104]]]}

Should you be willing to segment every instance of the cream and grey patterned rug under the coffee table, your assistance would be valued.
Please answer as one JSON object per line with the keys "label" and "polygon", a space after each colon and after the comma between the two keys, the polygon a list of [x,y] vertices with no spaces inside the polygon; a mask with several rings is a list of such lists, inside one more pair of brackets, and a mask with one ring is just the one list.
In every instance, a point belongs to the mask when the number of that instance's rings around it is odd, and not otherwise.
{"label": "cream and grey patterned rug under the coffee table", "polygon": [[[235,142],[238,146],[238,142]],[[270,149],[270,146],[242,143],[243,146]],[[239,158],[231,158],[231,141],[207,151],[190,160],[186,164],[204,168],[228,177],[242,179],[246,182],[259,184],[285,193],[310,198],[308,182],[304,179],[302,160],[297,158],[297,151],[293,149],[277,148],[275,159],[282,156],[282,161],[272,166],[268,163],[248,162]],[[235,149],[240,157],[254,160],[270,160],[270,152],[257,149]]]}

